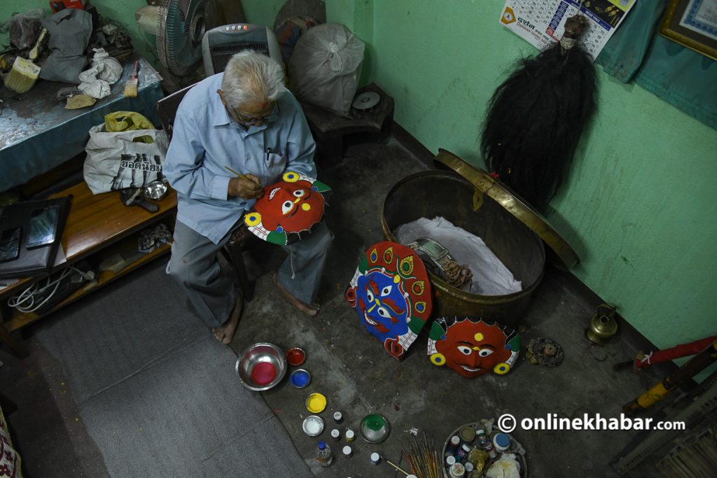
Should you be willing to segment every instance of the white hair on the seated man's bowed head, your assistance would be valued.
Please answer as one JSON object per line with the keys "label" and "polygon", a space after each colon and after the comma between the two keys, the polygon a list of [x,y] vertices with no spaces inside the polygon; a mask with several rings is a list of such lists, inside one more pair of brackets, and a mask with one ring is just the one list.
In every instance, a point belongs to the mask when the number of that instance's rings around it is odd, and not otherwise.
{"label": "white hair on the seated man's bowed head", "polygon": [[234,54],[222,77],[224,100],[231,107],[247,102],[276,101],[284,91],[280,64],[265,54],[244,50]]}

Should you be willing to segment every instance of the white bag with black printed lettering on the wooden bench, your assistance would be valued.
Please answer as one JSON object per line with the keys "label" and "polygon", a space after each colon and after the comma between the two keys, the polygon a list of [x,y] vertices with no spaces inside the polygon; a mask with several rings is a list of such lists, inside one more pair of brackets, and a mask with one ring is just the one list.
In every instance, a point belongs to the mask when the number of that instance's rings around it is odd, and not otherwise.
{"label": "white bag with black printed lettering on the wooden bench", "polygon": [[[141,136],[150,136],[153,143],[134,141]],[[100,194],[161,181],[168,144],[164,130],[108,133],[105,123],[92,126],[85,146],[85,182],[92,194]]]}

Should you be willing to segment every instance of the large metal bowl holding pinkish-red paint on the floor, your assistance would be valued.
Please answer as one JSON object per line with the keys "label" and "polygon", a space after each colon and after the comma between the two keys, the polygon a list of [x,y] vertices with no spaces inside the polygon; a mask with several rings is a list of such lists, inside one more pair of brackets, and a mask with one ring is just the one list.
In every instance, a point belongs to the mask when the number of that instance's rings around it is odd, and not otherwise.
{"label": "large metal bowl holding pinkish-red paint on the floor", "polygon": [[255,343],[239,354],[236,370],[246,388],[269,390],[284,378],[286,357],[283,350],[272,343]]}

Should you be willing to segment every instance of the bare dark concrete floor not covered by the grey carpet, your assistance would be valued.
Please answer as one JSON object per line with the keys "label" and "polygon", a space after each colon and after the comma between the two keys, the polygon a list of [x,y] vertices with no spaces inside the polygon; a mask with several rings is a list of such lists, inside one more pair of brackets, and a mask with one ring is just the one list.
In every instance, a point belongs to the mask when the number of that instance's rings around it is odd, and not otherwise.
{"label": "bare dark concrete floor not covered by the grey carpet", "polygon": [[[640,375],[612,371],[614,363],[630,360],[637,350],[644,348],[644,341],[623,326],[606,345],[591,345],[584,338],[584,328],[601,301],[570,274],[553,267],[546,268],[545,277],[522,321],[521,342],[526,345],[535,337],[558,341],[565,350],[564,363],[559,367],[531,365],[521,353],[516,367],[506,376],[462,378],[429,362],[425,353],[425,330],[402,362],[389,357],[381,344],[362,328],[343,294],[360,255],[369,245],[384,239],[380,211],[386,192],[399,178],[427,168],[425,160],[409,153],[394,138],[388,138],[380,143],[355,144],[347,149],[343,161],[320,168],[320,178],[334,189],[327,221],[336,240],[323,279],[322,307],[317,317],[301,315],[273,286],[270,271],[283,260],[281,249],[254,242],[245,253],[257,278],[256,294],[245,306],[231,347],[240,353],[247,345],[268,341],[284,350],[301,347],[307,351],[303,368],[313,376],[308,387],[293,388],[285,380],[262,395],[318,477],[397,476],[388,464],[371,464],[369,456],[372,451],[378,451],[407,468],[401,449],[411,436],[410,430],[418,431],[419,436],[425,433],[442,447],[452,431],[462,424],[506,413],[518,419],[546,414],[576,417],[599,413],[607,418],[618,417],[624,403],[661,377],[657,370]],[[130,276],[123,280],[131,279]],[[113,287],[121,287],[121,281]],[[29,333],[32,334],[32,329]],[[54,458],[47,459],[44,468],[49,474],[40,472],[33,476],[104,476],[101,462],[97,465],[98,458],[101,460],[98,450],[87,441],[86,432],[82,435],[81,429],[73,431],[72,419],[67,419],[72,417],[72,403],[62,403],[65,396],[62,387],[41,384],[39,388],[46,388],[39,390],[37,384],[24,385],[32,383],[32,374],[36,373],[34,364],[42,357],[34,355],[19,363],[0,351],[0,359],[6,362],[4,368],[0,368],[0,379],[4,379],[0,383],[10,383],[15,396],[22,396],[19,388],[29,388],[25,396],[44,396],[44,400],[53,403],[48,414],[60,410],[65,414],[64,429],[60,423],[53,428],[60,431],[49,436],[40,436],[42,431],[37,431],[36,444],[42,449],[23,450],[27,457],[39,457],[54,450]],[[59,376],[61,371],[57,373]],[[305,435],[301,426],[309,415],[305,399],[313,392],[323,393],[328,400],[326,410],[319,414],[326,428],[318,437]],[[346,428],[358,432],[359,421],[369,413],[386,416],[391,433],[378,445],[357,437],[352,444],[353,456],[344,458],[341,447],[346,444],[345,440],[335,442],[329,436],[335,426],[331,419],[333,411],[343,413],[343,424],[336,426],[342,436]],[[48,423],[42,421],[42,417],[33,420],[38,429]],[[513,432],[527,451],[528,472],[533,477],[617,476],[608,463],[633,434],[632,431],[521,429]],[[327,441],[334,451],[331,467],[320,468],[314,462],[314,450],[320,440]],[[270,452],[281,459],[280,450]],[[69,464],[73,472],[57,472],[58,463]],[[88,463],[94,463],[95,468]],[[56,472],[50,471],[53,469]]]}

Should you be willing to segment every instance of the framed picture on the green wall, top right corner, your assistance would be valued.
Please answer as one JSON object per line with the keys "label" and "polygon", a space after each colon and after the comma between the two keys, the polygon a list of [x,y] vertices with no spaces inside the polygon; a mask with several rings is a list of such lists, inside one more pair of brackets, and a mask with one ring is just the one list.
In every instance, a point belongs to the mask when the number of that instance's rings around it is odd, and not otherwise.
{"label": "framed picture on the green wall, top right corner", "polygon": [[660,34],[717,59],[717,0],[670,0]]}

